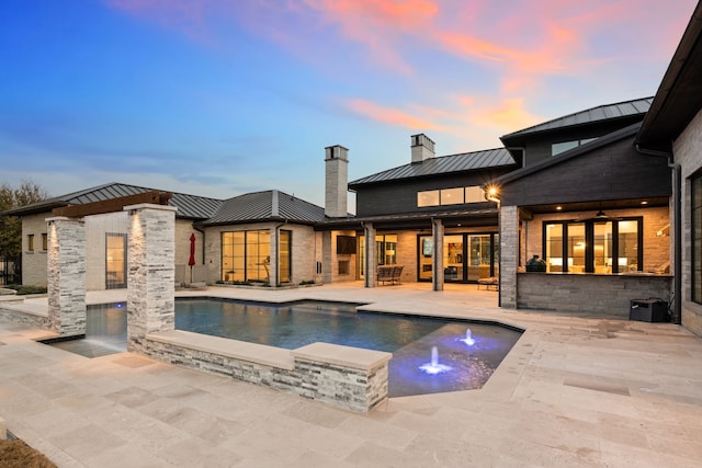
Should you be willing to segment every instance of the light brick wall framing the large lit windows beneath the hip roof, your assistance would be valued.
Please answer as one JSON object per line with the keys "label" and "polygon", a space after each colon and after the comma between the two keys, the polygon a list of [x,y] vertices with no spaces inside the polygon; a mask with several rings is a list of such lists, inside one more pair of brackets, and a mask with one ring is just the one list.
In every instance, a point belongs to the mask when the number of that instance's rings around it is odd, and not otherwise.
{"label": "light brick wall framing the large lit windows beneath the hip roof", "polygon": [[[207,266],[207,283],[215,284],[220,281],[222,273],[222,232],[272,230],[280,222],[254,222],[250,225],[213,226],[205,228],[205,259]],[[299,284],[303,281],[316,278],[315,254],[316,240],[314,228],[305,225],[286,224],[280,229],[292,231],[292,265],[291,283]],[[189,235],[190,236],[190,235]],[[190,252],[189,252],[190,254]]]}

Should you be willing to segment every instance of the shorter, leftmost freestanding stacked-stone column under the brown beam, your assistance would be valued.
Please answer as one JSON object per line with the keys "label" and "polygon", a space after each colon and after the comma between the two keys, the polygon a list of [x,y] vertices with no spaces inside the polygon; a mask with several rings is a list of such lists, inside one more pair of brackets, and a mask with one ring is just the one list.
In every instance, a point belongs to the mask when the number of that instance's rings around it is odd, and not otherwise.
{"label": "shorter, leftmost freestanding stacked-stone column under the brown beam", "polygon": [[48,317],[61,335],[86,333],[86,224],[54,217],[48,222]]}

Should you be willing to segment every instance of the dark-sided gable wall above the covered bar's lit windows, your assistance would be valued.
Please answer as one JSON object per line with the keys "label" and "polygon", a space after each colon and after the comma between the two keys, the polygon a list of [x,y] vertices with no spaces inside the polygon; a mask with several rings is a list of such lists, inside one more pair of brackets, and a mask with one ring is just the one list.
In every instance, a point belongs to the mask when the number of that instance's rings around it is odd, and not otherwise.
{"label": "dark-sided gable wall above the covered bar's lit windows", "polygon": [[524,206],[670,194],[667,160],[642,156],[625,138],[511,181],[502,186],[500,197],[503,206]]}

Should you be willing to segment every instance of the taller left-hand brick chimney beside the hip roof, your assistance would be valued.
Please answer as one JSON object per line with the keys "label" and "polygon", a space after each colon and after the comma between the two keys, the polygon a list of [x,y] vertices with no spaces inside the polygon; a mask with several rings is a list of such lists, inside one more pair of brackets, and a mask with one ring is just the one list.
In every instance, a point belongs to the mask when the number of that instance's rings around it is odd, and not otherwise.
{"label": "taller left-hand brick chimney beside the hip roof", "polygon": [[349,150],[340,145],[325,148],[325,215],[347,217],[349,191]]}

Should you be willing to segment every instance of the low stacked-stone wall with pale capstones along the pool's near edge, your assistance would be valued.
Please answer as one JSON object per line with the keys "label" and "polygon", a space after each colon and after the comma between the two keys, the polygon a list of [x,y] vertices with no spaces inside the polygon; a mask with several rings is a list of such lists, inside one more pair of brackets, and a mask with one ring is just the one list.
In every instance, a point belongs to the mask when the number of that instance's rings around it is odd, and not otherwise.
{"label": "low stacked-stone wall with pale capstones along the pool's near edge", "polygon": [[[196,334],[190,334],[192,335]],[[292,365],[271,365],[258,362],[257,356],[242,358],[230,355],[226,349],[217,351],[223,346],[236,349],[240,342],[235,340],[199,335],[195,340],[200,345],[193,345],[186,342],[188,338],[189,334],[184,333],[176,338],[150,335],[147,336],[147,346],[143,352],[158,361],[274,388],[356,412],[369,412],[387,399],[390,353],[313,343],[293,351],[275,349],[274,353],[278,354],[290,353],[288,361]],[[228,343],[223,345],[223,340]],[[203,343],[205,346],[211,344],[205,350],[202,347]],[[337,357],[347,353],[347,350],[362,353],[373,364],[366,366],[339,363]],[[270,353],[263,351],[258,354]]]}

